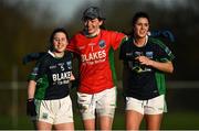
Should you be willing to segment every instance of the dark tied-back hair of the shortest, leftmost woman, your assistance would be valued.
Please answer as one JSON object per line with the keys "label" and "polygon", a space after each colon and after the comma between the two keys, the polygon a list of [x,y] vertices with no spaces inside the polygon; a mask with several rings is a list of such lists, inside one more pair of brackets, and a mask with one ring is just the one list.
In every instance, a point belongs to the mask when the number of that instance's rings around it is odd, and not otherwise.
{"label": "dark tied-back hair of the shortest, leftmost woman", "polygon": [[57,33],[57,32],[64,33],[66,39],[67,39],[67,41],[69,41],[69,35],[67,35],[67,32],[65,31],[64,28],[56,28],[56,29],[54,29],[53,32],[51,33],[51,36],[50,36],[50,40],[49,40],[50,41],[50,46],[49,46],[50,51],[53,51],[53,48],[54,48],[53,47],[53,39],[54,39],[55,33]]}

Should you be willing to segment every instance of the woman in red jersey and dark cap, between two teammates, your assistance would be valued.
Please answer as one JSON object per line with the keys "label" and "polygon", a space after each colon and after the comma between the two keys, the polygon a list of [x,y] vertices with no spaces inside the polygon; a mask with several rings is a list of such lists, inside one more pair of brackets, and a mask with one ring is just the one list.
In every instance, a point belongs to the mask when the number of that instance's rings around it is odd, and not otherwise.
{"label": "woman in red jersey and dark cap, between two teammates", "polygon": [[114,51],[125,34],[101,29],[105,19],[97,7],[87,8],[82,20],[83,31],[67,46],[80,62],[80,111],[85,130],[95,130],[96,117],[101,130],[111,130],[116,106]]}

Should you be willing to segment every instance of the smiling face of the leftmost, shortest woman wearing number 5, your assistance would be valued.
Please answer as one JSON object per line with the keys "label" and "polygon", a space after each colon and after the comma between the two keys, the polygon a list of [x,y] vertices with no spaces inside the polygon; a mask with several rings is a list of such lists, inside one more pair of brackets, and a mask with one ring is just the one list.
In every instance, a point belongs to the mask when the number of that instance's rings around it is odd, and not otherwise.
{"label": "smiling face of the leftmost, shortest woman wearing number 5", "polygon": [[65,51],[66,46],[67,46],[69,42],[66,39],[66,34],[63,32],[56,32],[54,34],[53,37],[53,46],[54,46],[54,51],[56,53],[62,53]]}

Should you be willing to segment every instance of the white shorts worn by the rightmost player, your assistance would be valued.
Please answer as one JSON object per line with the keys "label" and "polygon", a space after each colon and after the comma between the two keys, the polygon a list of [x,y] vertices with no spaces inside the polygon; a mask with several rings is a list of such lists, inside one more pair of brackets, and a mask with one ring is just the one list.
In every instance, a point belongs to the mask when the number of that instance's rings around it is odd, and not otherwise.
{"label": "white shorts worn by the rightmost player", "polygon": [[126,110],[135,110],[142,114],[159,114],[167,112],[165,95],[148,100],[138,100],[133,97],[126,97]]}

